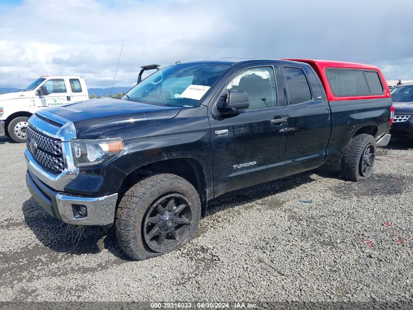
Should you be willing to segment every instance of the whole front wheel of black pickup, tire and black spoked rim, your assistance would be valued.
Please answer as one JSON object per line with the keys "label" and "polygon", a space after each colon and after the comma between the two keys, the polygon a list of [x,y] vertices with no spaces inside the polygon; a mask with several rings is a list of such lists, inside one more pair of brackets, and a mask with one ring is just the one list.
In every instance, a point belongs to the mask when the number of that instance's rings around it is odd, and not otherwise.
{"label": "whole front wheel of black pickup, tire and black spoked rim", "polygon": [[176,250],[191,240],[201,216],[199,195],[187,180],[156,174],[122,197],[115,216],[116,237],[134,260]]}

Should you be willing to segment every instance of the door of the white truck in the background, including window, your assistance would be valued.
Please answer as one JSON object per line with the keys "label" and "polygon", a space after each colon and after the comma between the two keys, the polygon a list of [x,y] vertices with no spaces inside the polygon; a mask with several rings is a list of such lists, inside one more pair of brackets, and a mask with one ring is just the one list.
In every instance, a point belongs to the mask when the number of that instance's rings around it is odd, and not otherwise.
{"label": "door of the white truck in the background, including window", "polygon": [[[63,78],[54,78],[47,80],[42,84],[47,89],[47,95],[35,96],[36,107],[52,107],[70,103],[70,91],[66,87]],[[69,99],[69,100],[68,100]]]}

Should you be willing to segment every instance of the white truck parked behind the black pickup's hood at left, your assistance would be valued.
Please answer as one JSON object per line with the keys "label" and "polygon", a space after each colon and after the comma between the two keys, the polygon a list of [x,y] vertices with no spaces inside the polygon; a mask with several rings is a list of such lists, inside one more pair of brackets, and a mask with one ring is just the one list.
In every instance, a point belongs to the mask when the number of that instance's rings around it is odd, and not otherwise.
{"label": "white truck parked behind the black pickup's hood at left", "polygon": [[27,120],[33,113],[88,99],[83,77],[41,76],[16,93],[0,95],[0,135],[23,143],[26,140]]}

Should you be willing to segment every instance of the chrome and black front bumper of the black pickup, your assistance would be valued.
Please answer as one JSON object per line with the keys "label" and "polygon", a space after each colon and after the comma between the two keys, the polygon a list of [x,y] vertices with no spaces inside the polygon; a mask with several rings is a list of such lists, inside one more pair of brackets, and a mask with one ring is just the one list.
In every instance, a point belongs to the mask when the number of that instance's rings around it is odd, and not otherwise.
{"label": "chrome and black front bumper of the black pickup", "polygon": [[[74,196],[54,191],[30,171],[26,173],[26,184],[33,198],[53,217],[74,225],[106,226],[113,223],[118,194],[102,197]],[[79,214],[80,207],[87,210]]]}

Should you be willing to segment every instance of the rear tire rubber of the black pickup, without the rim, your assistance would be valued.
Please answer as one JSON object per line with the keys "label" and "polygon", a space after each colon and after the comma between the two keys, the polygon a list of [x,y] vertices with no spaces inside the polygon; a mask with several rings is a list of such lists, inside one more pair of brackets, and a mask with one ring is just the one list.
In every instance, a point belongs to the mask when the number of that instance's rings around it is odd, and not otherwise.
{"label": "rear tire rubber of the black pickup, without the rim", "polygon": [[374,150],[374,157],[376,153],[376,142],[373,136],[369,134],[360,134],[354,136],[347,146],[346,152],[341,160],[341,170],[343,177],[348,181],[360,181],[368,178],[374,167],[374,160],[371,165],[369,173],[362,172],[363,156],[367,148]]}

